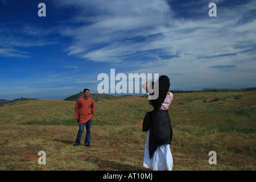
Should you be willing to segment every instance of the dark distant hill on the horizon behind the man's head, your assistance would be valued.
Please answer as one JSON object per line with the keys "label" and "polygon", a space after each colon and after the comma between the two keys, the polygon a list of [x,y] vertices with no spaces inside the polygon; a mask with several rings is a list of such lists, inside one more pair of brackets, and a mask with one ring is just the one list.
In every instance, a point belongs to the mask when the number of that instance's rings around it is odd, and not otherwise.
{"label": "dark distant hill on the horizon behind the man's head", "polygon": [[[84,97],[83,92],[69,96],[69,97],[65,98],[64,101],[77,101],[80,97]],[[118,99],[118,98],[127,97],[127,96],[111,96],[108,94],[90,93],[89,97],[92,98],[93,101],[97,102],[97,101],[102,101],[102,100],[113,100],[113,99]]]}

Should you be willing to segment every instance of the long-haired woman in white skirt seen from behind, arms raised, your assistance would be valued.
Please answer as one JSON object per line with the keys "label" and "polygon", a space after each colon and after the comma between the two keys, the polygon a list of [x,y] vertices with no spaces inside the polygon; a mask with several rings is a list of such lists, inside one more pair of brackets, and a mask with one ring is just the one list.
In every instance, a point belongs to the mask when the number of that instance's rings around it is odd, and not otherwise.
{"label": "long-haired woman in white skirt seen from behind, arms raised", "polygon": [[[143,84],[143,88],[152,93],[154,90],[150,90],[152,87],[147,88],[147,84],[152,85],[151,80]],[[143,120],[143,131],[148,131],[143,166],[152,168],[153,171],[171,171],[173,166],[170,150],[172,126],[168,107],[174,95],[168,92],[169,87],[170,79],[160,76],[155,84],[155,89],[159,89],[159,96],[156,100],[149,101],[153,110],[148,112]]]}

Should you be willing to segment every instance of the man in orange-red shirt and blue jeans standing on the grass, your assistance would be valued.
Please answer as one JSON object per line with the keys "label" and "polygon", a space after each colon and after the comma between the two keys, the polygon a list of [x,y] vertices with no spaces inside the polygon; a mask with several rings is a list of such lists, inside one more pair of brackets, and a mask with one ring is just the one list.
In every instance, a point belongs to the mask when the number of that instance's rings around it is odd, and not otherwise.
{"label": "man in orange-red shirt and blue jeans standing on the grass", "polygon": [[90,147],[90,123],[94,116],[94,102],[89,98],[90,90],[84,89],[84,97],[81,97],[76,102],[75,113],[76,120],[79,122],[79,131],[77,133],[76,142],[73,146],[79,146],[81,143],[82,132],[86,127],[86,137],[84,145]]}

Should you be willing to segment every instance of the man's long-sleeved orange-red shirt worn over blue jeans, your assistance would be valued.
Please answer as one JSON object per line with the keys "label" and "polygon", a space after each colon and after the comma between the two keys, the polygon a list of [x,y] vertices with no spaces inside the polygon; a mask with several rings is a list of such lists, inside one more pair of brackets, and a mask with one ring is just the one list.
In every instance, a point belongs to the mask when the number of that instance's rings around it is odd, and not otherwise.
{"label": "man's long-sleeved orange-red shirt worn over blue jeans", "polygon": [[92,98],[85,99],[81,97],[76,102],[75,113],[79,123],[86,123],[94,116],[94,102]]}

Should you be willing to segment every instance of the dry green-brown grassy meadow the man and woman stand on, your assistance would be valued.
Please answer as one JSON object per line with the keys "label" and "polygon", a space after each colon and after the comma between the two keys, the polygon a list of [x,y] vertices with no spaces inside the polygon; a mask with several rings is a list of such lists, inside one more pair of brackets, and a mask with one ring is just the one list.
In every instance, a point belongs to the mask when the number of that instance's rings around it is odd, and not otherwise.
{"label": "dry green-brown grassy meadow the man and woman stand on", "polygon": [[[147,97],[94,102],[92,147],[74,147],[74,101],[0,107],[0,170],[150,170],[143,167]],[[256,91],[175,93],[169,107],[174,170],[255,170]],[[81,142],[85,139],[85,131]],[[46,165],[39,165],[39,151]],[[216,151],[217,164],[208,155]]]}

